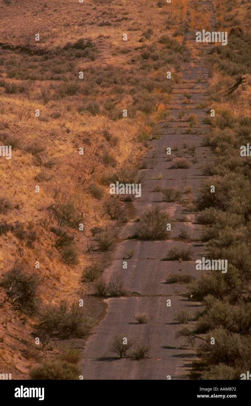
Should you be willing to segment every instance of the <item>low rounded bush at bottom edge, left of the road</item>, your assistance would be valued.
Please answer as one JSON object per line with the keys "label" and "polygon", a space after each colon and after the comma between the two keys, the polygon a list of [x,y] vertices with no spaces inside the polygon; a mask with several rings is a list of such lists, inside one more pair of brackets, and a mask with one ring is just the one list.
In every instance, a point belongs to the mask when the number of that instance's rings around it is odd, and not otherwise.
{"label": "low rounded bush at bottom edge, left of the road", "polygon": [[80,374],[77,365],[67,361],[44,361],[30,369],[30,377],[35,380],[78,380]]}

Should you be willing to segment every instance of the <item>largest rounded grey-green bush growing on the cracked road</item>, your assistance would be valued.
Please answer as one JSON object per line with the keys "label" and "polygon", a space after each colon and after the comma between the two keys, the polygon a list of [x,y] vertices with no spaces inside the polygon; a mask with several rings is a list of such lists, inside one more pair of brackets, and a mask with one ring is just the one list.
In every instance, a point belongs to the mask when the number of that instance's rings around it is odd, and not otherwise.
{"label": "largest rounded grey-green bush growing on the cracked road", "polygon": [[170,236],[167,231],[169,222],[169,215],[156,206],[145,212],[136,228],[135,237],[139,240],[167,240]]}

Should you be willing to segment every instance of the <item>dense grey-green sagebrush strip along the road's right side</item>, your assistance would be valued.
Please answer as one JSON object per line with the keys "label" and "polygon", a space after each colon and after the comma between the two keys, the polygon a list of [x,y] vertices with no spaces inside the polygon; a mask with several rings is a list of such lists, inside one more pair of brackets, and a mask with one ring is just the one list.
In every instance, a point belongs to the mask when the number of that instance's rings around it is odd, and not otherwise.
{"label": "dense grey-green sagebrush strip along the road's right side", "polygon": [[[249,156],[240,156],[241,145],[247,146],[251,135],[251,6],[243,0],[215,0],[214,6],[216,30],[228,32],[228,44],[214,44],[209,57],[208,106],[215,117],[208,114],[213,128],[203,145],[211,147],[216,158],[203,168],[210,178],[203,183],[196,206],[208,258],[227,259],[228,270],[225,276],[211,270],[190,282],[188,297],[201,300],[204,308],[197,312],[194,328],[183,327],[176,336],[186,337],[189,344],[202,340],[192,379],[239,380],[251,357],[251,166]],[[215,193],[210,193],[210,185]],[[188,318],[178,315],[177,320],[186,323]]]}

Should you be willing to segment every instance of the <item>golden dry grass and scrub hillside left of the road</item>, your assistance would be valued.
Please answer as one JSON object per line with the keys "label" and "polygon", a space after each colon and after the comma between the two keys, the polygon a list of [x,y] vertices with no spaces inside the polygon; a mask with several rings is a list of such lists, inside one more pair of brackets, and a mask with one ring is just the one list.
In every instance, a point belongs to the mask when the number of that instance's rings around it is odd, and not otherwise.
{"label": "golden dry grass and scrub hillside left of the road", "polygon": [[130,216],[108,186],[136,179],[180,80],[186,1],[1,0],[0,9],[0,143],[12,146],[0,158],[0,369],[24,379],[47,360],[31,376],[65,379],[62,354],[104,311],[88,294],[114,222]]}

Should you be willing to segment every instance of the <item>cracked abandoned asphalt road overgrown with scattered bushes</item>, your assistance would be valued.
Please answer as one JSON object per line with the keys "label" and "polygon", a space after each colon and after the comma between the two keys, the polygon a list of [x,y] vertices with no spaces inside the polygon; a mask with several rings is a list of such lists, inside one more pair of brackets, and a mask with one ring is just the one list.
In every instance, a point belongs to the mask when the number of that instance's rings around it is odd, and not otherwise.
{"label": "cracked abandoned asphalt road overgrown with scattered bushes", "polygon": [[[215,30],[214,8],[211,2],[201,2],[211,13],[211,29]],[[156,186],[160,188],[176,187],[184,192],[191,186],[191,194],[196,199],[201,183],[206,179],[201,168],[206,162],[213,159],[208,147],[201,145],[203,135],[210,131],[210,126],[203,124],[205,117],[209,116],[208,108],[195,108],[207,97],[208,77],[210,65],[207,54],[210,43],[196,43],[195,33],[203,26],[196,26],[193,31],[184,36],[184,43],[188,47],[189,62],[182,65],[182,78],[173,91],[173,99],[169,106],[167,122],[157,125],[156,135],[160,139],[150,142],[147,151],[149,161],[154,160],[153,169],[143,169],[145,181],[142,186],[141,198],[135,199],[135,216],[119,231],[119,243],[113,253],[113,261],[104,271],[104,279],[119,271],[123,276],[125,287],[134,292],[126,297],[107,298],[108,307],[106,315],[95,327],[84,349],[80,361],[82,375],[86,380],[156,380],[189,379],[188,373],[191,364],[196,359],[195,348],[180,348],[184,339],[175,339],[175,331],[181,324],[175,322],[175,314],[184,309],[190,314],[188,327],[194,323],[193,317],[199,310],[200,303],[182,296],[186,293],[186,284],[164,283],[170,272],[181,272],[198,278],[199,271],[195,269],[195,260],[201,259],[205,254],[205,247],[200,241],[201,225],[197,224],[196,214],[177,203],[163,201],[161,192],[152,192]],[[195,50],[195,51],[194,51]],[[168,70],[168,69],[167,69]],[[184,93],[191,95],[185,102]],[[187,110],[188,109],[188,110]],[[198,124],[190,127],[188,119],[178,118],[178,113],[186,110],[187,116],[196,114]],[[187,169],[171,169],[172,162],[168,161],[167,147],[171,147],[172,157],[175,155],[175,145],[179,151],[184,151],[184,143],[196,146],[197,163],[190,162],[192,156],[186,154],[190,165]],[[153,155],[154,154],[154,155]],[[154,156],[154,157],[153,157]],[[159,176],[162,173],[162,177]],[[159,179],[161,177],[161,179]],[[182,195],[187,199],[187,195]],[[160,207],[170,215],[173,224],[171,239],[166,241],[139,241],[128,239],[134,235],[137,226],[137,217],[141,217],[147,209]],[[186,218],[185,221],[177,221]],[[175,221],[176,220],[176,221]],[[191,242],[177,241],[180,228],[190,234]],[[192,261],[162,261],[173,246],[179,248],[190,247],[193,251]],[[125,251],[134,249],[131,259],[126,258]],[[128,268],[123,269],[123,261],[127,261]],[[180,270],[181,269],[181,270]],[[179,271],[180,270],[180,271]],[[167,307],[167,299],[171,299],[171,307]],[[146,313],[150,320],[147,324],[138,324],[134,315]],[[136,344],[144,343],[151,346],[149,358],[134,361],[130,358],[115,356],[109,351],[110,343],[115,334],[132,339]]]}

